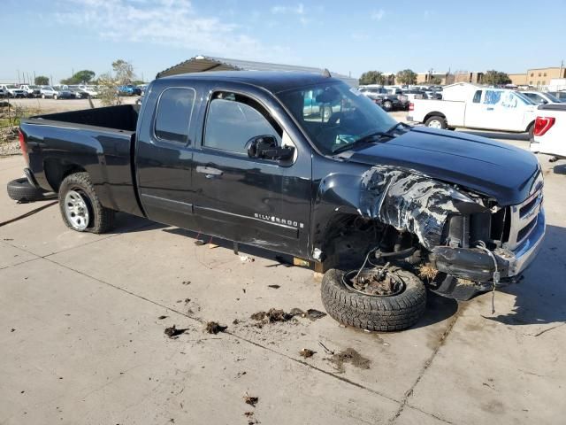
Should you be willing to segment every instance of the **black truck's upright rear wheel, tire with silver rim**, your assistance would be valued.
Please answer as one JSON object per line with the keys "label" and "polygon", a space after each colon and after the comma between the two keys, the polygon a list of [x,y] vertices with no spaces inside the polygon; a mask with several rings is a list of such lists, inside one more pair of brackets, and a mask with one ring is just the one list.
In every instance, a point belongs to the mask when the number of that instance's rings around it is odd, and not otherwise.
{"label": "black truck's upright rear wheel, tire with silver rim", "polygon": [[77,232],[105,233],[114,224],[115,212],[100,203],[88,173],[65,177],[59,187],[59,209],[65,225]]}

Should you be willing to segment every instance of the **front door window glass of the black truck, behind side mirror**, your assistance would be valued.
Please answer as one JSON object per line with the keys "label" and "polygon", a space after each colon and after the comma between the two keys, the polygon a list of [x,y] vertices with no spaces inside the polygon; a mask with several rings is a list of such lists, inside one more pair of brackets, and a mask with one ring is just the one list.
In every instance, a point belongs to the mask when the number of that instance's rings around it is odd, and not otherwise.
{"label": "front door window glass of the black truck, behind side mirror", "polygon": [[250,97],[219,91],[212,95],[206,117],[204,146],[247,154],[246,143],[272,135],[281,144],[283,131],[264,107]]}

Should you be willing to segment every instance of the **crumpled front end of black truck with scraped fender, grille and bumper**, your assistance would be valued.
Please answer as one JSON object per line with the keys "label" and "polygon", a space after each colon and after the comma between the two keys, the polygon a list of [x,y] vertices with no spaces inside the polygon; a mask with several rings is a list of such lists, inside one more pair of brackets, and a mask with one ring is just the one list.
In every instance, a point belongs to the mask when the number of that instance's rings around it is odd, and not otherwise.
{"label": "crumpled front end of black truck with scraped fender, grille and bumper", "polygon": [[545,233],[541,175],[531,195],[511,206],[393,166],[371,167],[361,184],[358,213],[404,240],[414,236],[419,256],[411,267],[446,297],[469,299],[518,279]]}

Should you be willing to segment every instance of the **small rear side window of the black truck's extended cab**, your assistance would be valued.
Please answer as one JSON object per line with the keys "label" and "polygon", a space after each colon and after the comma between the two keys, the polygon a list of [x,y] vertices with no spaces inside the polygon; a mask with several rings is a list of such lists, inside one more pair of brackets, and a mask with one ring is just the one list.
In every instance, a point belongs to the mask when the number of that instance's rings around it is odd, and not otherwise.
{"label": "small rear side window of the black truck's extended cab", "polygon": [[194,89],[165,89],[157,104],[156,137],[167,142],[187,144],[194,104]]}

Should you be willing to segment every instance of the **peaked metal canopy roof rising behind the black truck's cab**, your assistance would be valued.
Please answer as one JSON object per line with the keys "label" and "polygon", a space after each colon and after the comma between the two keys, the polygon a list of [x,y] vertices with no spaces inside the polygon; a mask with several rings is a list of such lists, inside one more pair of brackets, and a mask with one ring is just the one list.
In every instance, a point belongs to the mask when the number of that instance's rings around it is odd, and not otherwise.
{"label": "peaked metal canopy roof rising behind the black truck's cab", "polygon": [[[323,73],[323,68],[311,66],[294,66],[283,64],[271,64],[268,62],[253,62],[250,60],[213,58],[208,56],[195,56],[180,64],[157,73],[156,78],[177,75],[179,73],[204,73],[208,71],[283,71],[299,73]],[[358,86],[358,80],[348,75],[330,72],[334,78],[346,82],[352,87]]]}

